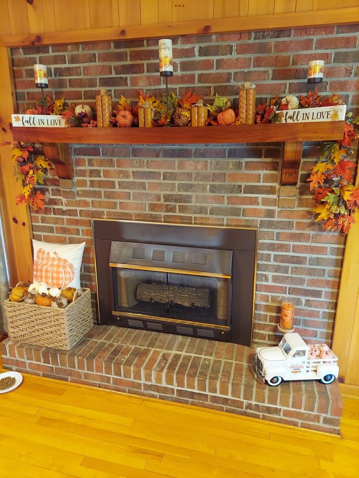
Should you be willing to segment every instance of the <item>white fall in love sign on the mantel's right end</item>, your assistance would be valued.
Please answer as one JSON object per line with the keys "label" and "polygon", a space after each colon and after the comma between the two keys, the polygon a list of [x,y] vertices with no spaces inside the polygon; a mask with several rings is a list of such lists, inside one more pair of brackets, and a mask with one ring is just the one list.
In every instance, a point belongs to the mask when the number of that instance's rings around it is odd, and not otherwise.
{"label": "white fall in love sign on the mantel's right end", "polygon": [[313,123],[315,121],[339,121],[345,119],[346,105],[323,106],[282,111],[282,123]]}

